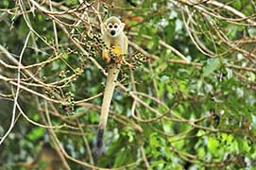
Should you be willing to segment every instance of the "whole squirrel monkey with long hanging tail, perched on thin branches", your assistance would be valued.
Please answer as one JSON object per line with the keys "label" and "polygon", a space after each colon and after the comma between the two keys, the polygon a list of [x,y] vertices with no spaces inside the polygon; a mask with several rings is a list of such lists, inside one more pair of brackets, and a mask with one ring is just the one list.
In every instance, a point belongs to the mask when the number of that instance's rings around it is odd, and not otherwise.
{"label": "whole squirrel monkey with long hanging tail, perched on thin branches", "polygon": [[106,22],[101,25],[102,39],[107,45],[106,49],[103,49],[102,51],[102,58],[106,60],[110,66],[101,106],[95,156],[101,155],[103,150],[104,131],[107,126],[111,98],[120,68],[120,62],[115,59],[111,59],[111,56],[114,55],[121,59],[122,55],[128,54],[128,37],[124,33],[124,27],[125,24],[114,16],[108,18]]}

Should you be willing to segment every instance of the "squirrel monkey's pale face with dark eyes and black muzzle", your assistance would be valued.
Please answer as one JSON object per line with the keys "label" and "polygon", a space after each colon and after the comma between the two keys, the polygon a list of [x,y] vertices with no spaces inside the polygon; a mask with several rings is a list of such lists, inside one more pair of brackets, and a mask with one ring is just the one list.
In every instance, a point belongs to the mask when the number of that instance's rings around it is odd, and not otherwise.
{"label": "squirrel monkey's pale face with dark eyes and black muzzle", "polygon": [[124,26],[124,23],[108,23],[105,29],[109,36],[117,37],[123,32]]}

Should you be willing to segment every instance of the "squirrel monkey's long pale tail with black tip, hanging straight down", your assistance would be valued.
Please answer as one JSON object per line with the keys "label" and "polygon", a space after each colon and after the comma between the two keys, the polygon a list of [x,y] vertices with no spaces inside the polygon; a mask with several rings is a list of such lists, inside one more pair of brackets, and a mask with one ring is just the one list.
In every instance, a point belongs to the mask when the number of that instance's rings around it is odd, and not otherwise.
{"label": "squirrel monkey's long pale tail with black tip, hanging straight down", "polygon": [[95,157],[100,156],[103,152],[104,132],[107,126],[109,111],[111,107],[111,99],[114,92],[114,87],[116,84],[118,73],[119,73],[119,65],[112,64],[108,71],[107,83],[106,83],[106,88],[104,91],[104,96],[103,96],[103,101],[101,106],[101,113],[100,113],[98,132],[97,132],[97,138],[96,138],[96,149],[94,151]]}

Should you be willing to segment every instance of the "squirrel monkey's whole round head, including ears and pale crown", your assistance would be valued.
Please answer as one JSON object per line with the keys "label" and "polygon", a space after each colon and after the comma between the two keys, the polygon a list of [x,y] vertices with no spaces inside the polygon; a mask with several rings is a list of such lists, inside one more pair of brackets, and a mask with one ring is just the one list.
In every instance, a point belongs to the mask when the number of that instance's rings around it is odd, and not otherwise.
{"label": "squirrel monkey's whole round head, including ears and pale crown", "polygon": [[125,27],[125,24],[122,23],[117,17],[111,16],[103,24],[103,30],[112,38],[118,37],[121,35]]}

